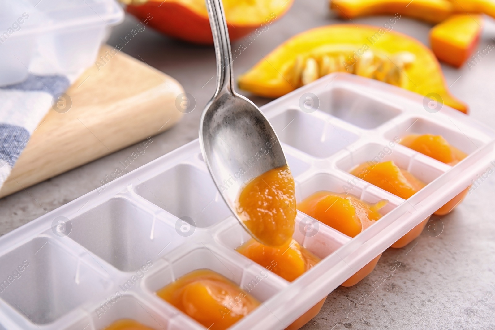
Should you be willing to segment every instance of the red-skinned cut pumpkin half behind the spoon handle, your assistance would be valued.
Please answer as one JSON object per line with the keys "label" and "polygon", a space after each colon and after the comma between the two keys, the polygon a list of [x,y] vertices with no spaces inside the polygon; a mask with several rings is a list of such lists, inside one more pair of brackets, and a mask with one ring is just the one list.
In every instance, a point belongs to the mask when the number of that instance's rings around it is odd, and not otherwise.
{"label": "red-skinned cut pumpkin half behind the spoon handle", "polygon": [[[212,45],[208,12],[204,0],[124,0],[127,11],[146,20],[170,37],[195,44]],[[275,19],[284,15],[294,0],[224,0],[223,7],[231,40],[255,39]],[[143,3],[144,2],[144,3]],[[254,31],[254,32],[253,32]]]}

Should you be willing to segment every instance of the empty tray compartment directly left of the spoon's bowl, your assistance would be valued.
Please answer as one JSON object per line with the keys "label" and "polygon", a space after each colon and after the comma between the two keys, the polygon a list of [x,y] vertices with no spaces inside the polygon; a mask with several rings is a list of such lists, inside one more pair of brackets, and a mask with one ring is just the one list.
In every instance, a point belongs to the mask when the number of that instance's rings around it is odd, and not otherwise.
{"label": "empty tray compartment directly left of the spoon's bowl", "polygon": [[206,166],[178,164],[137,185],[135,192],[178,218],[204,228],[232,213],[215,187]]}

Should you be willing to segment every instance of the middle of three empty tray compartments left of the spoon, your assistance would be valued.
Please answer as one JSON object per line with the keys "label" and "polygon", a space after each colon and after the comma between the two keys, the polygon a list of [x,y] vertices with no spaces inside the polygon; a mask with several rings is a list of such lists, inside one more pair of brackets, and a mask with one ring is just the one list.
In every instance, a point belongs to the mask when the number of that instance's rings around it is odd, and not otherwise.
{"label": "middle of three empty tray compartments left of the spoon", "polygon": [[134,272],[183,243],[165,216],[117,196],[72,219],[68,237],[118,270]]}

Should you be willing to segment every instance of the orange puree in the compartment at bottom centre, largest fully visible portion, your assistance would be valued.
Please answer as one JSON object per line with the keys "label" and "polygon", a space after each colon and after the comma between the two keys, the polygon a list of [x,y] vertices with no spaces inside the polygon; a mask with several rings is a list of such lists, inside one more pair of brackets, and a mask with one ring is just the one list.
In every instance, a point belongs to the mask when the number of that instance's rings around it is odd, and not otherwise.
{"label": "orange puree in the compartment at bottom centre, largest fully visible portion", "polygon": [[208,269],[186,274],[156,293],[210,330],[229,328],[259,305],[236,283]]}

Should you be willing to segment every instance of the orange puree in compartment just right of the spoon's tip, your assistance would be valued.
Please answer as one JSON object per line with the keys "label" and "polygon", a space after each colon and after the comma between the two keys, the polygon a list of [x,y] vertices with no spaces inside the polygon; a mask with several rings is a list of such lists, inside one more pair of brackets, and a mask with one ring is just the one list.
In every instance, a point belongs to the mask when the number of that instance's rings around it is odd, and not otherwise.
{"label": "orange puree in compartment just right of the spoon's tip", "polygon": [[297,209],[354,237],[382,217],[378,210],[386,204],[386,200],[371,205],[350,195],[318,191],[299,203]]}

